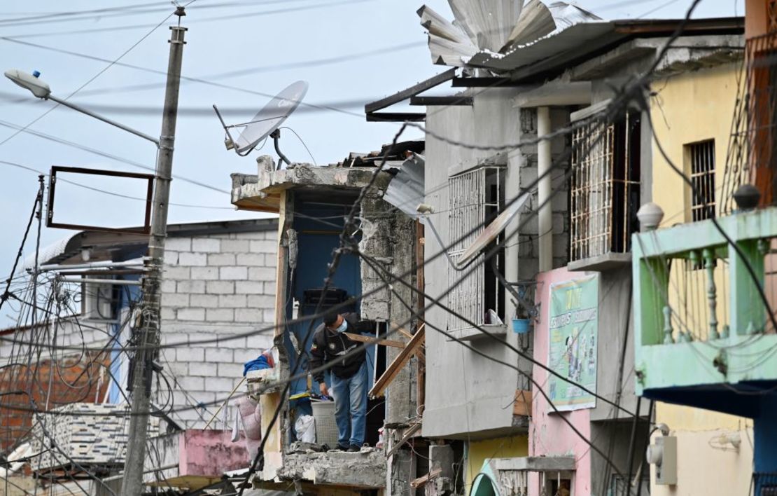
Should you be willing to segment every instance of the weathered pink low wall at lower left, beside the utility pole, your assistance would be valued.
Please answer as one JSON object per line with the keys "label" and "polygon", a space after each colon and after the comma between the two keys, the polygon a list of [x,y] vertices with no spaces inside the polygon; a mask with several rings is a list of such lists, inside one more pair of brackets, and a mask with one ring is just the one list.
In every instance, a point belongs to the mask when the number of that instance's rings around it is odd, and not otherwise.
{"label": "weathered pink low wall at lower left, beside the utility pole", "polygon": [[221,477],[231,470],[249,466],[246,443],[232,442],[230,431],[186,429],[180,435],[179,475]]}

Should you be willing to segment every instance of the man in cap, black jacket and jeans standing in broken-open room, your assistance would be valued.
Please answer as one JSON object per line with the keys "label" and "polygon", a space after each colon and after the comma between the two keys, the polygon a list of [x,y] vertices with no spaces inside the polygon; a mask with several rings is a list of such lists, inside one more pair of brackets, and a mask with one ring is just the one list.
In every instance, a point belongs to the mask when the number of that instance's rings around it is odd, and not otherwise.
{"label": "man in cap, black jacket and jeans standing in broken-open room", "polygon": [[[357,452],[364,444],[367,423],[367,353],[360,349],[360,343],[343,334],[347,330],[360,330],[355,313],[327,314],[313,334],[310,366],[315,370],[325,363],[331,365],[337,448]],[[329,396],[324,372],[314,372],[313,379],[319,383],[321,394]]]}

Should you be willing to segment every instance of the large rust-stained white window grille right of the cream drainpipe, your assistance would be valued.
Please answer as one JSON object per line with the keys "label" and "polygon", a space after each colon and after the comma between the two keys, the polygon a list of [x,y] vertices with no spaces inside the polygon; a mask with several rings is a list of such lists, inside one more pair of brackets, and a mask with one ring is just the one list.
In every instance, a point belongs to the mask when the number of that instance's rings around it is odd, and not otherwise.
{"label": "large rust-stained white window grille right of the cream drainpipe", "polygon": [[639,114],[572,135],[570,259],[626,253],[639,229]]}

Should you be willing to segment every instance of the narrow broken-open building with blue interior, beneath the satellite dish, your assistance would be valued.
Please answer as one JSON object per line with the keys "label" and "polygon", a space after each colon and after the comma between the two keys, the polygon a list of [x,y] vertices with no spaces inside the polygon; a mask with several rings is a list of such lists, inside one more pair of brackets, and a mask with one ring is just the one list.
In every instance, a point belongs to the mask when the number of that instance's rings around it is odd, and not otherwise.
{"label": "narrow broken-open building with blue interior, beneath the satellite dish", "polygon": [[[423,141],[396,143],[369,155],[351,154],[330,166],[294,163],[277,169],[269,156],[257,163],[256,175],[232,175],[233,204],[279,215],[277,362],[274,369],[248,376],[249,397],[259,405],[261,432],[267,434],[253,484],[276,489],[291,482],[298,491],[319,494],[382,489],[391,482],[381,447],[390,450],[393,438],[412,434],[423,407],[423,389],[420,394],[418,389],[423,384],[423,328],[416,316],[420,299],[413,292],[423,284],[423,259],[416,250],[423,228],[403,211],[423,200],[418,193],[423,183],[414,179],[419,171],[423,174]],[[341,245],[340,233],[354,204],[354,227],[347,236],[353,244]],[[337,250],[339,264],[329,273]],[[326,290],[324,281],[329,282]],[[371,399],[368,447],[361,452],[322,449],[336,447],[332,410],[307,394],[318,389],[307,373],[312,331],[330,308],[355,312],[371,323],[367,334],[348,334],[367,350]],[[274,382],[289,382],[289,387]],[[279,408],[280,416],[271,425]],[[294,430],[305,414],[316,418],[313,445],[299,442]],[[410,471],[404,462],[397,470],[408,474],[402,483],[406,486]]]}

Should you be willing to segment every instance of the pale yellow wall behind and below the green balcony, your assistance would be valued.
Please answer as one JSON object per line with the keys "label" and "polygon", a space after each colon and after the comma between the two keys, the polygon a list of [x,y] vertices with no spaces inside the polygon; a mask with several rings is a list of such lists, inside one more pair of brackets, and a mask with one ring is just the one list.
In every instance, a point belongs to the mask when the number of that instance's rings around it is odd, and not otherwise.
{"label": "pale yellow wall behind and below the green balcony", "polygon": [[[720,203],[731,120],[737,99],[739,68],[737,63],[722,65],[687,72],[653,84],[653,91],[658,93],[650,109],[653,133],[676,166],[688,172],[684,145],[715,139],[716,203]],[[652,152],[653,202],[664,210],[661,227],[688,222],[690,218],[686,207],[690,190],[663,158],[655,141]],[[719,320],[723,320],[721,317],[727,302],[721,271],[722,268],[716,271]],[[699,272],[699,278],[704,276],[703,271],[694,272]],[[674,300],[672,295],[670,299]],[[681,308],[677,301],[671,301],[670,305]],[[702,314],[704,312],[702,310]],[[703,336],[706,331],[701,329],[699,334]],[[653,482],[653,473],[650,494],[747,494],[753,459],[750,421],[709,410],[664,403],[657,403],[656,421],[667,424],[671,435],[678,437],[678,484],[657,486]],[[731,446],[723,448],[716,441],[720,435],[733,432],[740,435],[739,449]],[[703,470],[700,470],[702,467]],[[718,470],[725,471],[726,477],[710,477],[711,473],[720,473]]]}

